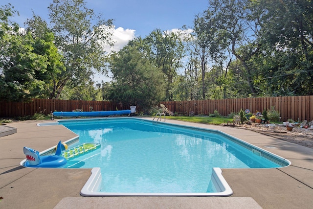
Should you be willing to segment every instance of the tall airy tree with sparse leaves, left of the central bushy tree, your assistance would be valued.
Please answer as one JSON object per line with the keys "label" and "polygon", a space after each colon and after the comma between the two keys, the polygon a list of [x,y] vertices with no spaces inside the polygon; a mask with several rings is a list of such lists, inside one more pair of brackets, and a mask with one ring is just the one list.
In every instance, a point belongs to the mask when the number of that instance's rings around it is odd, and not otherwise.
{"label": "tall airy tree with sparse leaves, left of the central bushy tree", "polygon": [[88,84],[94,70],[105,71],[104,46],[112,45],[113,25],[112,20],[105,21],[88,9],[84,0],[53,0],[48,9],[66,66],[51,95],[59,98],[69,80],[74,85]]}

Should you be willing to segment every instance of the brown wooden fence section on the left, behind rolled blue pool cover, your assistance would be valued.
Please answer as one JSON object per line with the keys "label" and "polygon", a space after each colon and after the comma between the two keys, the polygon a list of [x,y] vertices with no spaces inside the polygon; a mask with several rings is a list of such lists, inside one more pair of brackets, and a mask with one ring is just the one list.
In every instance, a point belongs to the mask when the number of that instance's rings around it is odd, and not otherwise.
{"label": "brown wooden fence section on the left, behind rolled blue pool cover", "polygon": [[32,99],[31,102],[0,102],[0,117],[33,116],[35,113],[50,114],[54,111],[129,110],[130,106],[115,104],[111,101],[83,101],[59,99]]}

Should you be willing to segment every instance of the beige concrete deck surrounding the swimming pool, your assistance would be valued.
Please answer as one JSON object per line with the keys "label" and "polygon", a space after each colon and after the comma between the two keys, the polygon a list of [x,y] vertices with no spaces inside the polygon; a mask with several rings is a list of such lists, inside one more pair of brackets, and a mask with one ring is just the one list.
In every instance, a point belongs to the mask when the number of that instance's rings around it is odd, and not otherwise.
{"label": "beige concrete deck surrounding the swimming pool", "polygon": [[[148,119],[148,118],[147,118]],[[149,118],[150,119],[150,118]],[[152,120],[152,118],[151,118]],[[313,149],[249,130],[174,121],[224,131],[291,161],[291,166],[273,169],[222,169],[233,190],[230,197],[82,197],[80,190],[91,169],[25,168],[22,148],[38,151],[76,135],[63,126],[41,126],[46,121],[10,123],[17,133],[0,137],[1,209],[79,208],[232,208],[305,209],[313,205]]]}

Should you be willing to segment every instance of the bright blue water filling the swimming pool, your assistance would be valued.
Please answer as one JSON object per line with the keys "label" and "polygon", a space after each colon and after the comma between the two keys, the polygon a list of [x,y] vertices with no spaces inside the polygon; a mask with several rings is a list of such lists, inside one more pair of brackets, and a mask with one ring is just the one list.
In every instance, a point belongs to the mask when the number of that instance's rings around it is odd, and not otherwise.
{"label": "bright blue water filling the swimming pool", "polygon": [[[216,131],[197,130],[133,118],[59,121],[79,135],[79,143],[99,149],[69,160],[65,167],[100,167],[101,192],[214,192],[213,167],[272,168],[286,166],[268,160]],[[228,139],[227,139],[228,138]],[[248,149],[247,149],[248,148]]]}

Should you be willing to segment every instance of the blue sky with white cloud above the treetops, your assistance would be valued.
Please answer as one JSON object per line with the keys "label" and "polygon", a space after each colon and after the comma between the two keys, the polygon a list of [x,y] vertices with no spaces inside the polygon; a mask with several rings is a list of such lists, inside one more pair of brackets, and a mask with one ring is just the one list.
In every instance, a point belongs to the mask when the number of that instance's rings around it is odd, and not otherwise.
{"label": "blue sky with white cloud above the treetops", "polygon": [[[47,23],[48,9],[52,0],[1,0],[0,5],[11,3],[20,16],[10,20],[24,27],[32,11]],[[145,38],[154,29],[162,31],[191,27],[195,16],[207,9],[208,0],[85,0],[95,14],[106,20],[113,19],[115,26],[114,50],[121,49],[134,37]]]}

